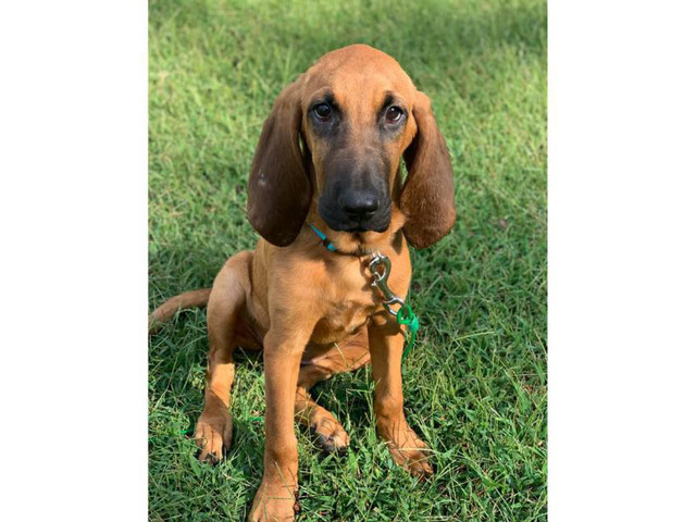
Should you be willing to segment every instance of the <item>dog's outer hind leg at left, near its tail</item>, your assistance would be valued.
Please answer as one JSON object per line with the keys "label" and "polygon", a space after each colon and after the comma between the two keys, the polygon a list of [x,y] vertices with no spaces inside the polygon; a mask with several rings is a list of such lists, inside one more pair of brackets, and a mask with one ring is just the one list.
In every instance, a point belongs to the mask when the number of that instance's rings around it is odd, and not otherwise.
{"label": "dog's outer hind leg at left, near its tail", "polygon": [[232,444],[229,390],[235,377],[233,351],[238,343],[235,332],[246,321],[249,271],[253,254],[249,251],[233,256],[215,277],[208,302],[208,370],[206,372],[206,405],[196,425],[195,438],[200,447],[200,460],[216,463],[223,449]]}

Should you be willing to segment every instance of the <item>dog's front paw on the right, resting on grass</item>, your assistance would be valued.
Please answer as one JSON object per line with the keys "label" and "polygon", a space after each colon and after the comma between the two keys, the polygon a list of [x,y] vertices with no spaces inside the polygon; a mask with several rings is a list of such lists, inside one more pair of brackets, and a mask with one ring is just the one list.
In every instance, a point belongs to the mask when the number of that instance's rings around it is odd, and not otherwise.
{"label": "dog's front paw on the right, resting on grass", "polygon": [[387,443],[394,461],[411,475],[427,477],[433,474],[427,453],[431,448],[411,430],[406,420],[377,424],[380,435]]}

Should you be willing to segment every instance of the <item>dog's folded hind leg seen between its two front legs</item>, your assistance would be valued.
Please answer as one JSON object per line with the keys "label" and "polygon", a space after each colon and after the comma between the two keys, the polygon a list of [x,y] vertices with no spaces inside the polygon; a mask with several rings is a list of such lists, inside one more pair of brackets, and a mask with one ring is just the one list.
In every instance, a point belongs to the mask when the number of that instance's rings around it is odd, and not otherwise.
{"label": "dog's folded hind leg seen between its two front legs", "polygon": [[300,366],[295,396],[295,417],[314,432],[324,451],[345,450],[350,437],[333,413],[312,400],[309,390],[320,381],[326,381],[336,373],[358,370],[369,362],[370,350],[365,331],[321,356],[309,359]]}

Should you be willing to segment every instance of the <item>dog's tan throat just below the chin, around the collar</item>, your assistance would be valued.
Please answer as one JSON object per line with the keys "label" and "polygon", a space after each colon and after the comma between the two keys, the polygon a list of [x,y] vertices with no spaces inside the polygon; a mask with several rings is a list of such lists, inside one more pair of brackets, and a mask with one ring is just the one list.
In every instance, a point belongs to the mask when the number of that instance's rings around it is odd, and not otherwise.
{"label": "dog's tan throat just below the chin, around the collar", "polygon": [[[312,199],[309,212],[307,214],[307,224],[315,226],[319,231],[326,235],[326,239],[336,247],[337,253],[348,256],[368,256],[377,251],[385,251],[387,247],[394,245],[397,234],[400,234],[406,216],[396,207],[391,206],[391,219],[389,226],[384,232],[338,232],[328,227],[326,222],[319,214],[319,204],[316,198]],[[301,234],[309,234],[316,239],[314,232],[309,227],[303,227]]]}

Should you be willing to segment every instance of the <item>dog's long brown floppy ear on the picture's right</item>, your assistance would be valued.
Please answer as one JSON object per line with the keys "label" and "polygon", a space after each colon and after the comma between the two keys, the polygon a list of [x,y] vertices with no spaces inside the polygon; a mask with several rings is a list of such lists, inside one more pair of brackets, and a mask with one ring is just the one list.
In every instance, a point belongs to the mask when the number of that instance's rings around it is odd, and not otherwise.
{"label": "dog's long brown floppy ear on the picture's right", "polygon": [[418,91],[413,104],[418,132],[403,152],[408,177],[399,198],[406,239],[417,248],[439,241],[455,224],[455,182],[445,138],[431,100]]}

